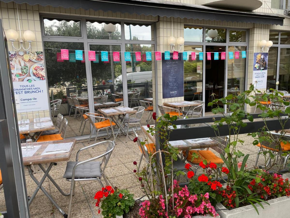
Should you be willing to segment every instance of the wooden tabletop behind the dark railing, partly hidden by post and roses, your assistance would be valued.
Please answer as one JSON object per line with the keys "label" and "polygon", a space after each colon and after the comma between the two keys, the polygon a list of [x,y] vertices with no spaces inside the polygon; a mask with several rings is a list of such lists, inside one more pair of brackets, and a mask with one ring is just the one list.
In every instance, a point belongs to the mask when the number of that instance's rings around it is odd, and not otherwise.
{"label": "wooden tabletop behind the dark railing, partly hidden by post and roses", "polygon": [[[151,126],[151,127],[154,128],[154,126]],[[151,133],[147,133],[147,130],[149,128],[147,126],[142,126],[141,129],[146,134],[146,136],[151,140],[151,142],[155,144],[155,135],[151,135]],[[191,150],[191,149],[213,148],[213,147],[218,146],[218,142],[213,139],[207,142],[195,142],[195,143],[190,143],[187,140],[181,140],[181,141],[183,141],[186,144],[172,145],[172,146],[182,151]]]}

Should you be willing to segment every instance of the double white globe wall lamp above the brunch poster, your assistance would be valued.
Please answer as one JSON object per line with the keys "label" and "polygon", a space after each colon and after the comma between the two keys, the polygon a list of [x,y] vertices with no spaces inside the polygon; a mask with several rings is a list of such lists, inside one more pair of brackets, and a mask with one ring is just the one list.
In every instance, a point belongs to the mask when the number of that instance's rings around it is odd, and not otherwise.
{"label": "double white globe wall lamp above the brunch poster", "polygon": [[20,47],[19,49],[15,48],[14,47],[14,42],[18,40],[18,33],[16,30],[13,30],[13,29],[10,29],[10,30],[7,30],[6,31],[6,37],[7,37],[7,40],[9,40],[11,43],[12,43],[12,47],[15,49],[15,50],[20,50],[21,47],[27,51],[30,49],[31,47],[31,42],[33,42],[33,40],[35,40],[35,35],[32,31],[30,30],[27,30],[23,33],[23,38],[26,42],[29,42],[29,47],[28,49],[25,49],[24,48],[24,40],[21,38],[21,34],[20,34],[20,39],[19,39],[19,42],[20,42]]}

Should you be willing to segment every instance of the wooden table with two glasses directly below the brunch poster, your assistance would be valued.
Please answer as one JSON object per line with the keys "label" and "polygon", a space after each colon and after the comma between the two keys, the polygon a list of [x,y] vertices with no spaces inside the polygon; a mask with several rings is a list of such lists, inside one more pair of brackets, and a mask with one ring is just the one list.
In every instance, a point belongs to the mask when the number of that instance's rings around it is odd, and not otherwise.
{"label": "wooden table with two glasses directly below the brunch poster", "polygon": [[[40,124],[41,124],[41,126],[38,127],[38,126],[36,126],[35,119],[29,119],[29,123],[26,123],[25,127],[19,126],[19,133],[25,135],[25,137],[27,139],[28,139],[28,136],[30,136],[31,139],[34,140],[36,133],[40,132],[39,135],[37,136],[37,138],[35,139],[35,141],[37,141],[39,136],[41,136],[43,131],[55,129],[55,126],[54,126],[50,117],[41,117]],[[34,133],[34,134],[31,135],[31,133]]]}

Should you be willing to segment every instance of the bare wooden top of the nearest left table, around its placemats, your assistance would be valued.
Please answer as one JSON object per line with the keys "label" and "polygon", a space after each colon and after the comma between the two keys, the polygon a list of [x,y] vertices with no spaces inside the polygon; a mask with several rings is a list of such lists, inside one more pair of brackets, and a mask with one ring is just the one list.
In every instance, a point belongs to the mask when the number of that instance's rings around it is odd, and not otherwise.
{"label": "bare wooden top of the nearest left table, around its placemats", "polygon": [[[51,163],[51,162],[60,162],[60,161],[68,161],[72,154],[73,148],[75,147],[76,139],[64,139],[58,141],[50,141],[50,142],[33,142],[34,146],[41,145],[41,147],[35,152],[35,154],[31,157],[24,157],[23,164],[24,165],[32,165],[32,164],[43,164],[43,163]],[[58,143],[70,143],[73,142],[73,145],[70,148],[69,152],[57,153],[57,154],[46,154],[41,155],[42,152],[46,149],[49,144],[58,144]],[[26,143],[22,143],[21,147],[26,147]]]}

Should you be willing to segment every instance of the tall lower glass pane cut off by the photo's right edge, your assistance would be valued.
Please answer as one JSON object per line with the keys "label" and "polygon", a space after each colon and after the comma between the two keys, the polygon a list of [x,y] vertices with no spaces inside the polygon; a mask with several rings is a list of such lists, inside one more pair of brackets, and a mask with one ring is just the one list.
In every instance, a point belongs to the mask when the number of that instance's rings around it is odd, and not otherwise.
{"label": "tall lower glass pane cut off by the photo's right edge", "polygon": [[278,90],[290,92],[290,48],[280,49]]}

